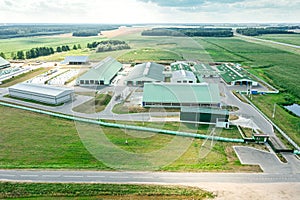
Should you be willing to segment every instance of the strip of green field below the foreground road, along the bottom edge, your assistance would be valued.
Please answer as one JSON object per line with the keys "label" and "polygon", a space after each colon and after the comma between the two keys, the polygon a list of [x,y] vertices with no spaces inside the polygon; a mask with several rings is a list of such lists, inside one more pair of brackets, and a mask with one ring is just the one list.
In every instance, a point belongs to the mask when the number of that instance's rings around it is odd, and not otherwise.
{"label": "strip of green field below the foreground road, along the bottom edge", "polygon": [[0,182],[0,198],[9,199],[211,199],[211,192],[196,187]]}

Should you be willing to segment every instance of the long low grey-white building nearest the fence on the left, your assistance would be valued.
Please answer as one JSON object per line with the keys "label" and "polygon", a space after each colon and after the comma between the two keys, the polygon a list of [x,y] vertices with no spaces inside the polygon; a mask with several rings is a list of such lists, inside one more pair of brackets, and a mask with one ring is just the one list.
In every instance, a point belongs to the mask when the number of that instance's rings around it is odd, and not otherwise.
{"label": "long low grey-white building nearest the fence on the left", "polygon": [[73,90],[69,88],[20,83],[8,88],[11,97],[28,99],[46,104],[59,105],[72,100]]}

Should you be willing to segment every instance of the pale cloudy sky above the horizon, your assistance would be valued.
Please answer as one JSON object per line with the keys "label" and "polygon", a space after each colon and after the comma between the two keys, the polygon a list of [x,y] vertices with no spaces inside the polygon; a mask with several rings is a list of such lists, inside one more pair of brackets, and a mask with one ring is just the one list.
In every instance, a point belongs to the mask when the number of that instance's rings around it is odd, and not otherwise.
{"label": "pale cloudy sky above the horizon", "polygon": [[0,0],[0,23],[299,23],[300,0]]}

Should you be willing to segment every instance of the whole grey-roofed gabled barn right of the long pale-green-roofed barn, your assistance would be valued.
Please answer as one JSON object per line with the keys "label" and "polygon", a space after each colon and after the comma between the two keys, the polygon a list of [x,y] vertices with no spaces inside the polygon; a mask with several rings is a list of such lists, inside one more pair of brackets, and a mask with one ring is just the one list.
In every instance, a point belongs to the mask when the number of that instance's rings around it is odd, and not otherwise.
{"label": "whole grey-roofed gabled barn right of the long pale-green-roofed barn", "polygon": [[163,82],[165,67],[163,65],[148,62],[134,66],[125,84],[128,86],[143,86],[145,83]]}

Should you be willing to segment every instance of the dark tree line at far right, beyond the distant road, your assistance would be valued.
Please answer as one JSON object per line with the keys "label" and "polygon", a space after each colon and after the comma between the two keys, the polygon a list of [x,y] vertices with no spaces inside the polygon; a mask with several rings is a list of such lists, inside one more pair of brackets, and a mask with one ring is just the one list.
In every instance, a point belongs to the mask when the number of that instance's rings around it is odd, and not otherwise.
{"label": "dark tree line at far right, beyond the distant road", "polygon": [[266,28],[238,28],[237,33],[247,36],[258,36],[263,34],[295,34],[289,31],[299,29],[299,26],[282,26],[282,27],[266,27]]}

